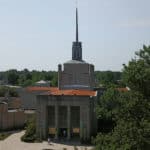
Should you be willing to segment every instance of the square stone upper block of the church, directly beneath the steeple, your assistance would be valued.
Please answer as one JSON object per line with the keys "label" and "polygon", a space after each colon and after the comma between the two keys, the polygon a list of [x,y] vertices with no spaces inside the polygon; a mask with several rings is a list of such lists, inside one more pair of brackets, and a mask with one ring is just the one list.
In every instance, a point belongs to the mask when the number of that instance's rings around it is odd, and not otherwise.
{"label": "square stone upper block of the church, directly beneath the steeple", "polygon": [[94,66],[85,62],[69,61],[58,66],[59,89],[89,89],[95,86]]}

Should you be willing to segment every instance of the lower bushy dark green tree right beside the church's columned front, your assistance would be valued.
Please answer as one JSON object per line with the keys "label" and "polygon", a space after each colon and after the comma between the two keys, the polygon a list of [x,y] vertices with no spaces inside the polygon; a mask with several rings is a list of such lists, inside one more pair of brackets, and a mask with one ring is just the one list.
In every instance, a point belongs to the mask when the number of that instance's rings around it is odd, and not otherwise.
{"label": "lower bushy dark green tree right beside the church's columned front", "polygon": [[[97,107],[99,119],[115,122],[108,133],[101,131],[95,142],[97,150],[149,150],[150,107],[138,92],[108,90]],[[110,123],[110,122],[109,122]],[[107,128],[106,125],[104,128]],[[106,130],[106,129],[105,129]],[[105,131],[104,130],[104,131]]]}

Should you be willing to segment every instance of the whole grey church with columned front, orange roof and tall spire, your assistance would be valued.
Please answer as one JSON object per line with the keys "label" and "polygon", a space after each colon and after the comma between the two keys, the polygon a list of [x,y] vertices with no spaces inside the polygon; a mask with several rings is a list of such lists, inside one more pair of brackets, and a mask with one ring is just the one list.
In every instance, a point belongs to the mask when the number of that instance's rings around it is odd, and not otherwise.
{"label": "whole grey church with columned front, orange roof and tall spire", "polygon": [[72,60],[63,66],[58,65],[58,87],[49,88],[49,91],[37,96],[37,137],[89,140],[97,131],[97,91],[94,87],[94,66],[82,59],[76,9],[76,41],[72,46]]}

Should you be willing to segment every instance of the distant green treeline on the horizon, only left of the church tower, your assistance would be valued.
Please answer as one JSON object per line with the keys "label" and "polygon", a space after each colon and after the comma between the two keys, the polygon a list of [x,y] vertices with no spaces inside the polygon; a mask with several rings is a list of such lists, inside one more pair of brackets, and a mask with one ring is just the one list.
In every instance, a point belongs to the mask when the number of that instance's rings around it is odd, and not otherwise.
{"label": "distant green treeline on the horizon, only left of the church tower", "polygon": [[35,82],[40,80],[51,81],[52,86],[57,85],[57,72],[55,71],[29,71],[24,69],[18,71],[16,69],[0,72],[0,80],[4,84],[29,86],[34,85]]}

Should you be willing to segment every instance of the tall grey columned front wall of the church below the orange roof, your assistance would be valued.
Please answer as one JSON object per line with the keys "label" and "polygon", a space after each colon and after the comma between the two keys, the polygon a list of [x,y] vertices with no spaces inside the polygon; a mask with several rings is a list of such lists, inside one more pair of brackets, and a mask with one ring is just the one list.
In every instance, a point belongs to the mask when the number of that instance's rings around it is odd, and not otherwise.
{"label": "tall grey columned front wall of the church below the orange roof", "polygon": [[[77,106],[80,110],[80,125],[79,137],[80,139],[87,140],[97,131],[97,120],[95,116],[96,97],[89,96],[45,96],[39,95],[37,97],[37,135],[41,139],[46,139],[49,134],[49,128],[55,130],[55,139],[59,139],[59,129],[67,129],[67,138],[70,139],[73,133],[73,127],[71,126],[71,107]],[[48,124],[48,107],[53,106],[55,109],[55,123],[52,126]],[[67,124],[62,126],[59,123],[59,107],[66,106],[67,108]]]}

